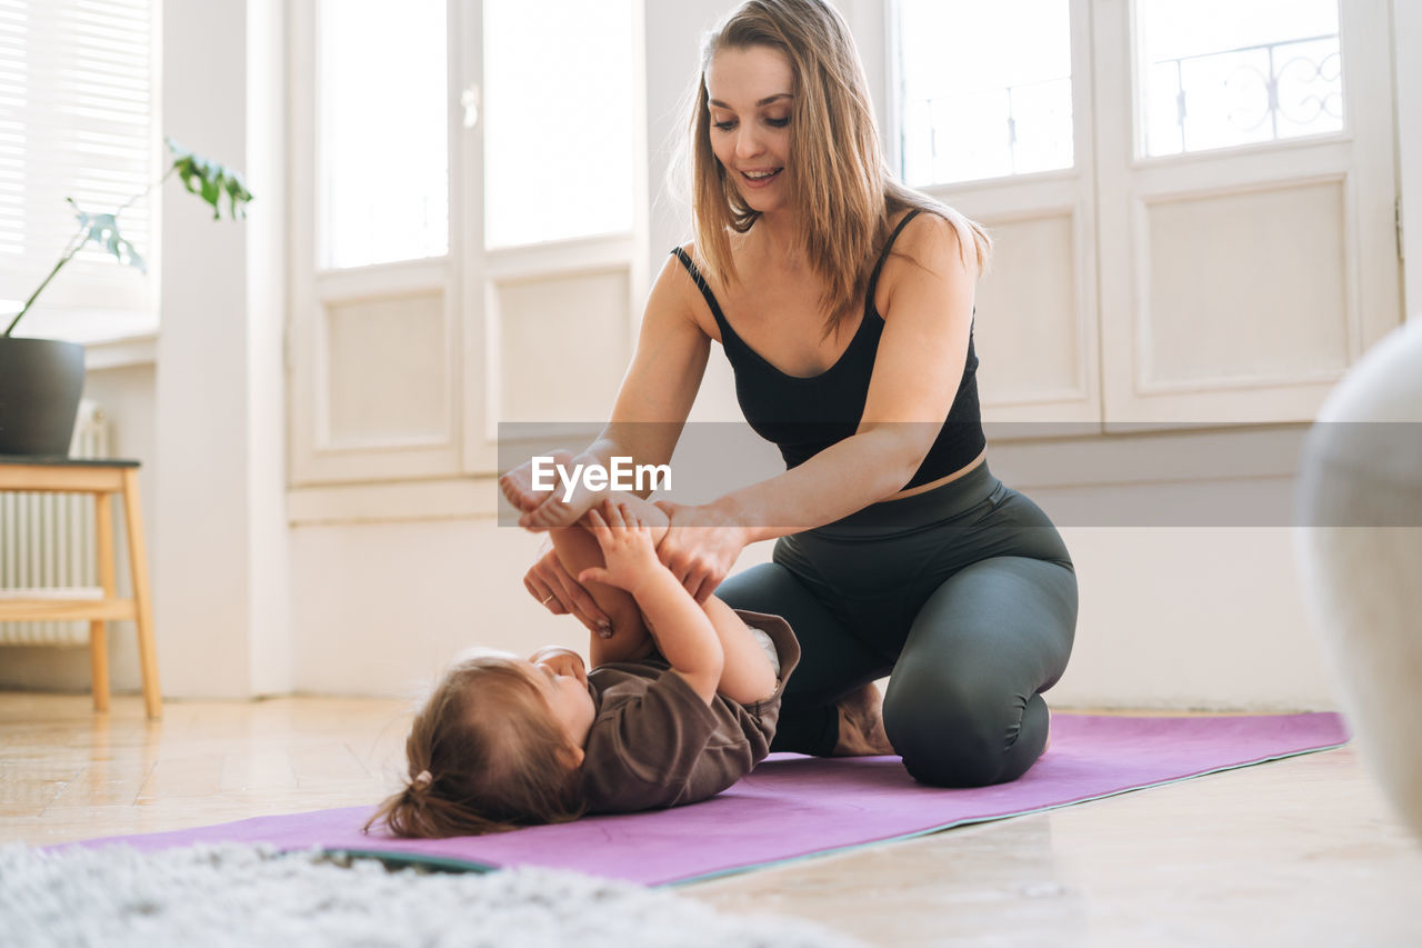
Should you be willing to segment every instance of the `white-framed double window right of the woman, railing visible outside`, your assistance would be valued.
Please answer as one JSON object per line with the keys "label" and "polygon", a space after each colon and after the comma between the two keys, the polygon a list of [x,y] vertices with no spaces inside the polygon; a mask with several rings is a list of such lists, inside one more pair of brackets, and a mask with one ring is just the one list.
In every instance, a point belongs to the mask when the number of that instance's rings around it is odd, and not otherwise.
{"label": "white-framed double window right of the woman, railing visible outside", "polygon": [[990,421],[1307,420],[1396,325],[1386,3],[889,9],[903,174],[997,243]]}

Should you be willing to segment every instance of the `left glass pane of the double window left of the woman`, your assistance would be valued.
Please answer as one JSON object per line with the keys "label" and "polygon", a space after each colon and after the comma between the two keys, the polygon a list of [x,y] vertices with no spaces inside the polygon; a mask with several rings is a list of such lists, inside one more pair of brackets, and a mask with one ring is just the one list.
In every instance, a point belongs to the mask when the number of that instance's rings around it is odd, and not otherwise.
{"label": "left glass pane of the double window left of the woman", "polygon": [[323,266],[449,252],[445,34],[444,0],[321,3]]}

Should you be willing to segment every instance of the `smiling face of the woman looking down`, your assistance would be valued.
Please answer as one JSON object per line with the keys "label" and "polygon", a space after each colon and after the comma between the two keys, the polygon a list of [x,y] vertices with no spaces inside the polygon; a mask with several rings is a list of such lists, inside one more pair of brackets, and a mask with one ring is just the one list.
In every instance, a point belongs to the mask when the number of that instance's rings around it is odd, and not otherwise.
{"label": "smiling face of the woman looking down", "polygon": [[786,177],[795,77],[768,46],[718,51],[705,73],[711,151],[752,211],[789,202]]}

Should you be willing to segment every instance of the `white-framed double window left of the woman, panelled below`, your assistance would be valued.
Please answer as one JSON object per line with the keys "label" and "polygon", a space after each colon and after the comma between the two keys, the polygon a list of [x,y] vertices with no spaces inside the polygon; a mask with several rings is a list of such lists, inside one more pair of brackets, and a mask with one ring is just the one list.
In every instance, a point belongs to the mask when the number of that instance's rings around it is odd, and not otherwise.
{"label": "white-framed double window left of the woman, panelled below", "polygon": [[444,515],[499,421],[602,413],[630,357],[644,4],[289,6],[292,483]]}

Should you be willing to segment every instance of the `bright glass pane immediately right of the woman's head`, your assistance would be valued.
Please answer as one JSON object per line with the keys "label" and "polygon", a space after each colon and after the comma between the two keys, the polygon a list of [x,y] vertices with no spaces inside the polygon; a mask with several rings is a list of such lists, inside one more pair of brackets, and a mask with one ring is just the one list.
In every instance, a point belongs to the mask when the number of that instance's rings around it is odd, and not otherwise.
{"label": "bright glass pane immediately right of the woman's head", "polygon": [[900,0],[910,185],[1072,167],[1068,0]]}

